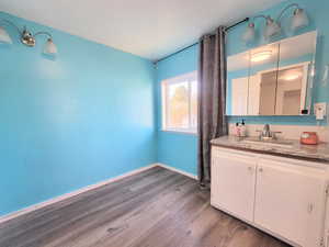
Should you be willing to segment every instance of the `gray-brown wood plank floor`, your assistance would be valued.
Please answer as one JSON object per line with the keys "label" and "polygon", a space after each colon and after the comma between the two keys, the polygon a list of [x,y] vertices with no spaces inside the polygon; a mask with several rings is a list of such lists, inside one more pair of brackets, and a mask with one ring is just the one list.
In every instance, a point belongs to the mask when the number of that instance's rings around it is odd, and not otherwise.
{"label": "gray-brown wood plank floor", "polygon": [[1,247],[286,247],[156,167],[0,225]]}

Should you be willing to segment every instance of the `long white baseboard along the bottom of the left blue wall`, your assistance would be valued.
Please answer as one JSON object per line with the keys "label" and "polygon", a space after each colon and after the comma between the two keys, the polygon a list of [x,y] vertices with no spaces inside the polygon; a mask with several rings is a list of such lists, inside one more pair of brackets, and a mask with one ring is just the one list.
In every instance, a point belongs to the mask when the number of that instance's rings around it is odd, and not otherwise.
{"label": "long white baseboard along the bottom of the left blue wall", "polygon": [[98,182],[98,183],[95,183],[95,184],[91,184],[91,186],[81,188],[81,189],[79,189],[79,190],[76,190],[76,191],[72,191],[72,192],[69,192],[69,193],[66,193],[66,194],[63,194],[63,195],[59,195],[59,197],[49,199],[49,200],[47,200],[47,201],[44,201],[44,202],[34,204],[34,205],[27,206],[27,207],[25,207],[25,209],[15,211],[15,212],[13,212],[13,213],[5,214],[5,215],[3,215],[3,216],[0,216],[0,224],[1,224],[1,223],[4,223],[4,222],[7,222],[7,221],[10,221],[10,220],[12,220],[12,218],[14,218],[14,217],[21,216],[21,215],[23,215],[23,214],[27,214],[27,213],[31,213],[31,212],[36,211],[36,210],[38,210],[38,209],[42,209],[42,207],[44,207],[44,206],[50,205],[50,204],[53,204],[53,203],[63,201],[63,200],[65,200],[65,199],[68,199],[68,198],[71,198],[71,197],[81,194],[81,193],[83,193],[83,192],[87,192],[87,191],[90,191],[90,190],[100,188],[100,187],[102,187],[102,186],[106,186],[106,184],[109,184],[109,183],[115,182],[115,181],[121,180],[121,179],[123,179],[123,178],[126,178],[126,177],[129,177],[129,176],[139,173],[139,172],[141,172],[141,171],[148,170],[148,169],[154,168],[154,167],[156,167],[156,166],[158,166],[158,164],[152,164],[152,165],[149,165],[149,166],[147,166],[147,167],[141,167],[141,168],[138,168],[138,169],[136,169],[136,170],[133,170],[133,171],[123,173],[123,175],[121,175],[121,176],[117,176],[117,177],[115,177],[115,178],[111,178],[111,179],[109,179],[109,180],[105,180],[105,181],[102,181],[102,182]]}

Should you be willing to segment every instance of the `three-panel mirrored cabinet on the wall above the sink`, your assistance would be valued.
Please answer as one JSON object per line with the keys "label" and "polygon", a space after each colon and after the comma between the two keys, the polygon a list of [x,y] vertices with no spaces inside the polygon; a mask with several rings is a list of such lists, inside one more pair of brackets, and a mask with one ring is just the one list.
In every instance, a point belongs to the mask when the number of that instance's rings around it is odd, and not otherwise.
{"label": "three-panel mirrored cabinet on the wall above the sink", "polygon": [[227,58],[227,115],[308,115],[317,33]]}

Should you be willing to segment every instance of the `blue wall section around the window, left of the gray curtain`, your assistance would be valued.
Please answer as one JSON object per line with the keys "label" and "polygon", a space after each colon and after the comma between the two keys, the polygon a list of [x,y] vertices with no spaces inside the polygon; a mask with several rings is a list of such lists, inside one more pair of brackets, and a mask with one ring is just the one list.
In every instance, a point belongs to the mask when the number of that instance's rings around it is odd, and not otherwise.
{"label": "blue wall section around the window, left of the gray curtain", "polygon": [[198,46],[158,63],[158,161],[196,175],[196,135],[161,131],[161,81],[197,69]]}

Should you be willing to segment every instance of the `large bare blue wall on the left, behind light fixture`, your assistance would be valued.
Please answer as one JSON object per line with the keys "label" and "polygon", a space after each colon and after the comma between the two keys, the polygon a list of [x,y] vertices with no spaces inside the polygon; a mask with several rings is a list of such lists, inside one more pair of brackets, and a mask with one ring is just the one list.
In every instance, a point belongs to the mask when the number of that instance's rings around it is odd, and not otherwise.
{"label": "large bare blue wall on the left, behind light fixture", "polygon": [[144,58],[52,32],[57,58],[0,45],[0,215],[157,161],[155,69]]}

